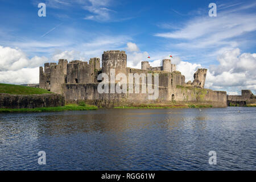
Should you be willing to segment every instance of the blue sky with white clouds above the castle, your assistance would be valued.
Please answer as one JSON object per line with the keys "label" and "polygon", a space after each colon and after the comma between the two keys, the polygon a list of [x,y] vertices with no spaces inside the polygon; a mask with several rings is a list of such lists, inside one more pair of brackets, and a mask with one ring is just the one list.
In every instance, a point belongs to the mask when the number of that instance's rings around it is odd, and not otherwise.
{"label": "blue sky with white clouds above the castle", "polygon": [[[46,3],[46,17],[38,16],[40,2]],[[212,2],[216,17],[208,15]],[[255,93],[255,1],[0,3],[0,82],[38,82],[36,70],[44,62],[88,61],[103,51],[122,49],[129,67],[140,68],[147,56],[159,65],[173,55],[186,81],[197,68],[208,68],[208,88]]]}

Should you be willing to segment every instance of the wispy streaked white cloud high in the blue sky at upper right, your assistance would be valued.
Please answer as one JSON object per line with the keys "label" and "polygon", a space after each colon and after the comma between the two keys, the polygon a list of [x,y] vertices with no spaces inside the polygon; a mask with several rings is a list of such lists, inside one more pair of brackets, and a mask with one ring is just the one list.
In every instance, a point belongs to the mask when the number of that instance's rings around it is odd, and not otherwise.
{"label": "wispy streaked white cloud high in the blue sky at upper right", "polygon": [[[221,51],[254,45],[256,14],[251,11],[256,3],[250,5],[225,5],[230,8],[217,10],[217,17],[190,16],[180,24],[162,23],[163,30],[155,36],[166,39],[166,48],[179,52],[179,55],[195,55],[192,61],[209,64],[216,60]],[[217,8],[218,9],[218,8]],[[175,24],[173,26],[173,24]],[[191,59],[190,59],[191,60]]]}

